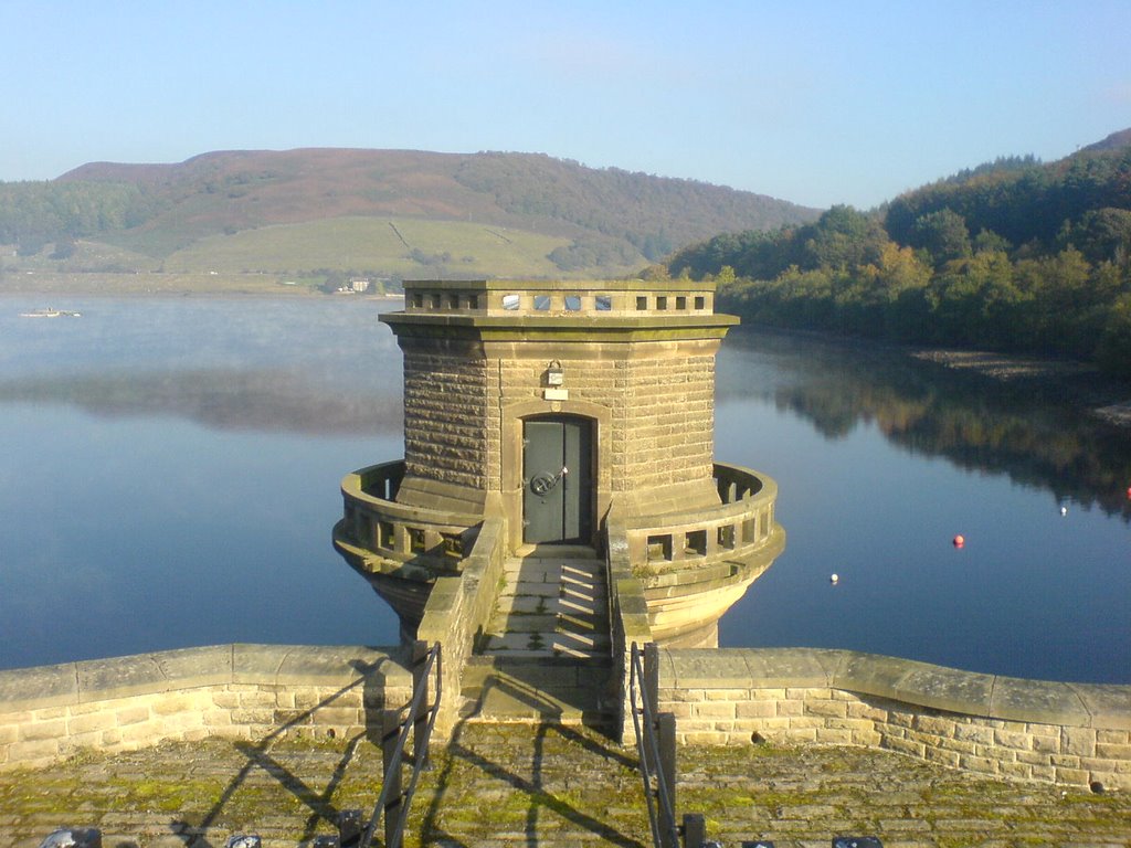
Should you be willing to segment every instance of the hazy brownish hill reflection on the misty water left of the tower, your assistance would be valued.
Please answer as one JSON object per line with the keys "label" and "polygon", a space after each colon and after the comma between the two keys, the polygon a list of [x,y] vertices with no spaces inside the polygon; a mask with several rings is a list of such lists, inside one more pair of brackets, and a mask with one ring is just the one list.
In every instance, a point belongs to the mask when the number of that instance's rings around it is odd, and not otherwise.
{"label": "hazy brownish hill reflection on the misty water left of the tower", "polygon": [[68,374],[0,382],[5,401],[69,404],[112,418],[173,415],[214,430],[343,435],[403,426],[399,373],[385,386],[291,370]]}

